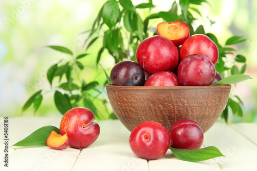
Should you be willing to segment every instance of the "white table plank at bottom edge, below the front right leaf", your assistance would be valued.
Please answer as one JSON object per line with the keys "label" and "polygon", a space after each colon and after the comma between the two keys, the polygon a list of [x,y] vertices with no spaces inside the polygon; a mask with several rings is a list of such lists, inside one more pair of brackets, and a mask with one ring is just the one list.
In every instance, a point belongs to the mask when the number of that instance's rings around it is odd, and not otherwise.
{"label": "white table plank at bottom edge, below the front right leaf", "polygon": [[187,162],[177,159],[169,149],[167,153],[158,160],[149,161],[149,170],[221,170],[214,160],[206,160],[200,162]]}

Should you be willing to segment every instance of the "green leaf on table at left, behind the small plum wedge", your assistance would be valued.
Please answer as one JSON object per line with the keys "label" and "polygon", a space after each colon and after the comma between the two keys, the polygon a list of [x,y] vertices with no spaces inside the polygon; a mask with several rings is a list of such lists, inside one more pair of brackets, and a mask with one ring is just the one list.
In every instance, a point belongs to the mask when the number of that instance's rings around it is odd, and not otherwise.
{"label": "green leaf on table at left, behind the small plum wedge", "polygon": [[15,143],[12,146],[38,146],[38,145],[46,145],[46,139],[50,135],[51,131],[56,131],[58,134],[60,134],[59,129],[55,126],[44,126],[41,127],[32,134],[30,134],[25,139]]}

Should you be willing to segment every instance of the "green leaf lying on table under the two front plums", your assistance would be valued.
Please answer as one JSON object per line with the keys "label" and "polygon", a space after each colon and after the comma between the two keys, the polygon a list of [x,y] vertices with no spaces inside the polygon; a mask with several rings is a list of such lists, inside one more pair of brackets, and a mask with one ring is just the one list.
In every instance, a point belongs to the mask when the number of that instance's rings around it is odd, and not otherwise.
{"label": "green leaf lying on table under the two front plums", "polygon": [[172,153],[180,160],[198,162],[224,156],[216,147],[209,146],[200,149],[179,149],[169,147]]}

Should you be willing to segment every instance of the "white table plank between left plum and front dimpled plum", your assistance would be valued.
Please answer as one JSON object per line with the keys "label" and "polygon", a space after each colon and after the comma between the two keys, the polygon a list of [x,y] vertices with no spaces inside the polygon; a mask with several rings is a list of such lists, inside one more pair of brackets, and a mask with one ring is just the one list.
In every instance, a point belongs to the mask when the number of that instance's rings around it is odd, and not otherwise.
{"label": "white table plank between left plum and front dimpled plum", "polygon": [[148,170],[147,160],[136,157],[128,142],[130,131],[120,121],[100,121],[96,142],[81,151],[72,171]]}

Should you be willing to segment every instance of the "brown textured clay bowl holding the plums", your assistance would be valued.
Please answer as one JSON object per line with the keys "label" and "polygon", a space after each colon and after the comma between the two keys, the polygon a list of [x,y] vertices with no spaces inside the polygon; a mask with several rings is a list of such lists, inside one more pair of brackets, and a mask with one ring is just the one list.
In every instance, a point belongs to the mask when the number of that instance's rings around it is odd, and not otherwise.
{"label": "brown textured clay bowl holding the plums", "polygon": [[176,121],[191,119],[204,132],[221,116],[231,86],[113,86],[106,85],[115,115],[130,131],[144,121],[156,121],[168,130]]}

